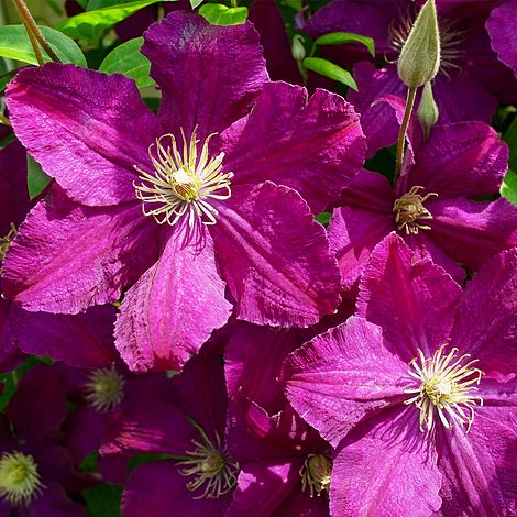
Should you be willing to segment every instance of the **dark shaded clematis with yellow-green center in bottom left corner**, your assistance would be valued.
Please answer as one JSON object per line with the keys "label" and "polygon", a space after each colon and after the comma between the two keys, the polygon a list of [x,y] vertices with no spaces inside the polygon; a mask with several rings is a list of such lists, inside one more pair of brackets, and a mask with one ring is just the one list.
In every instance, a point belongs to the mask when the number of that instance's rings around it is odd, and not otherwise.
{"label": "dark shaded clematis with yellow-green center in bottom left corner", "polygon": [[56,370],[36,366],[0,415],[0,515],[84,516],[70,494],[95,480],[77,472],[63,443],[65,388]]}

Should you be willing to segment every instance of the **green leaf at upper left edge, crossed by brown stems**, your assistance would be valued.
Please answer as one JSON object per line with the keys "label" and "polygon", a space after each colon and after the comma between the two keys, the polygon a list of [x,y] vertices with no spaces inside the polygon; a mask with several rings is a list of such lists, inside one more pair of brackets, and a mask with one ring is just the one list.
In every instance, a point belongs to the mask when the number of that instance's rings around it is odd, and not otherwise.
{"label": "green leaf at upper left edge, crossed by brown stems", "polygon": [[[77,43],[59,31],[47,26],[40,28],[48,44],[64,63],[87,66],[86,58]],[[45,61],[52,61],[43,51]],[[0,56],[37,65],[36,56],[23,25],[0,26]]]}

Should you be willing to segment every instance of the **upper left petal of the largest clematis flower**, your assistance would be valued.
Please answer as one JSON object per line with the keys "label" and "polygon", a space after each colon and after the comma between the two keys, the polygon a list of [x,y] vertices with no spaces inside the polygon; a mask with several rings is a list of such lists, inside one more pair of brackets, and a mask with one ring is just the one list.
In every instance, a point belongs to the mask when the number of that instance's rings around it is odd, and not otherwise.
{"label": "upper left petal of the largest clematis flower", "polygon": [[72,199],[135,199],[133,166],[146,167],[147,146],[162,131],[134,81],[50,63],[21,70],[7,96],[18,138]]}

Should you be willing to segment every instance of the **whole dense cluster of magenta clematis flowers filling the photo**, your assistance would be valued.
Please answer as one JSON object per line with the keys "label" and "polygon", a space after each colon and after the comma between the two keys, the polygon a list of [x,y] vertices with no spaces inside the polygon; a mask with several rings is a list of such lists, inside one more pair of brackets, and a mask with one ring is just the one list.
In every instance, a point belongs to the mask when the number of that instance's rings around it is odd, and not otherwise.
{"label": "whole dense cluster of magenta clematis flowers filling the photo", "polygon": [[0,366],[54,363],[0,415],[0,515],[80,516],[99,482],[131,517],[517,515],[517,208],[488,125],[517,100],[517,2],[437,4],[440,118],[410,116],[393,182],[363,167],[397,140],[409,0],[305,24],[374,37],[382,69],[334,56],[348,101],[270,79],[297,68],[267,0],[261,34],[182,11],[145,32],[157,113],[122,75],[19,72]]}

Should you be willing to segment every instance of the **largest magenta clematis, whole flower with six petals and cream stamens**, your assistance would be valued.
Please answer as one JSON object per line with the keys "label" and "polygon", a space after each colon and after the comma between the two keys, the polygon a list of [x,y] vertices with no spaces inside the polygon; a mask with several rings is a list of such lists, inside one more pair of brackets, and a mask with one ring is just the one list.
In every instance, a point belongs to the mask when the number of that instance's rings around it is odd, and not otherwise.
{"label": "largest magenta clematis, whole flower with six petals and cream stamens", "polygon": [[74,65],[22,70],[9,86],[14,131],[59,186],[9,250],[6,296],[78,312],[134,283],[116,336],[141,372],[179,370],[226,323],[227,285],[255,323],[333,312],[340,275],[307,204],[324,209],[362,164],[352,108],[268,82],[250,24],[173,13],[143,53],[158,116],[131,80]]}

